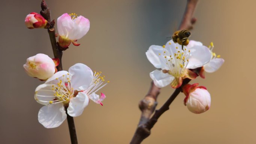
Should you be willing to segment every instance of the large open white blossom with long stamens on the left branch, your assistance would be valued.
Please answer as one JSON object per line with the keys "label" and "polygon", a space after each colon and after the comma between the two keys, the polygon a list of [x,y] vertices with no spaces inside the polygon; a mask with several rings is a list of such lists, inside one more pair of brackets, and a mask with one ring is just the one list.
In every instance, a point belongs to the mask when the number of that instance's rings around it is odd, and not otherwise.
{"label": "large open white blossom with long stamens on the left branch", "polygon": [[43,106],[38,113],[39,122],[45,128],[55,128],[68,115],[80,116],[88,105],[89,98],[98,104],[106,97],[95,94],[107,83],[101,73],[94,73],[84,64],[75,64],[68,71],[58,71],[44,84],[36,88],[34,98]]}

